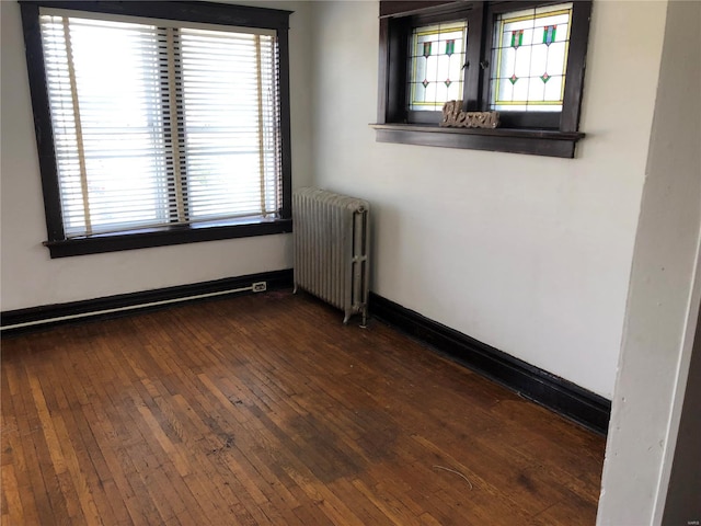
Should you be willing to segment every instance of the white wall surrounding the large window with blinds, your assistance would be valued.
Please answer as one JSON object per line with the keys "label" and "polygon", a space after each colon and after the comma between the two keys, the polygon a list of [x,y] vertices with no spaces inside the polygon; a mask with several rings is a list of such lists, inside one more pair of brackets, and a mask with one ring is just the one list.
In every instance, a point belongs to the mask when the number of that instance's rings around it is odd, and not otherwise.
{"label": "white wall surrounding the large window with blinds", "polygon": [[[255,2],[295,11],[290,18],[294,186],[311,181],[310,4]],[[1,309],[60,304],[115,294],[290,268],[291,236],[113,252],[50,260],[28,94],[20,8],[0,1],[1,38]]]}

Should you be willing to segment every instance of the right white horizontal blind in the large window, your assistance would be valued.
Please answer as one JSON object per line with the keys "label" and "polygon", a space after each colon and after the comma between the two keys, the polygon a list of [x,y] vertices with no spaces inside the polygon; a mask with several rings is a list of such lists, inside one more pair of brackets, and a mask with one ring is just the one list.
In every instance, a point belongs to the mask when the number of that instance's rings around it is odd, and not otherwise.
{"label": "right white horizontal blind in the large window", "polygon": [[279,207],[274,36],[180,32],[191,221]]}

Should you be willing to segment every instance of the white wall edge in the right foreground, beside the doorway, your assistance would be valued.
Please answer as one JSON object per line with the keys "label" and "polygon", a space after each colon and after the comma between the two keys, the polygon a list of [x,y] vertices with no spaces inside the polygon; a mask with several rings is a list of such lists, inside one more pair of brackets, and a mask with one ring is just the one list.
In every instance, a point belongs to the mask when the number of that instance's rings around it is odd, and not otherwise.
{"label": "white wall edge in the right foreground, beside the doorway", "polygon": [[[673,1],[604,465],[600,525],[659,524],[663,516],[701,300],[699,93],[701,3]],[[698,411],[698,404],[686,410]],[[697,462],[698,447],[697,439]]]}

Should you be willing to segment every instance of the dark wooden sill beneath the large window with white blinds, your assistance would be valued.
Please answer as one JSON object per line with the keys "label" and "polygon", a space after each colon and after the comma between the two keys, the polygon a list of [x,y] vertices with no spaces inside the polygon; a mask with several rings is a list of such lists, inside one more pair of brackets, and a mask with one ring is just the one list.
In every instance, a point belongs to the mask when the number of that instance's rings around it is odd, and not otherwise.
{"label": "dark wooden sill beneath the large window with white blinds", "polygon": [[215,222],[106,233],[61,241],[45,241],[44,245],[48,247],[51,259],[56,259],[71,255],[117,252],[120,250],[165,247],[170,244],[269,236],[291,231],[291,219],[258,220],[255,222],[238,224]]}

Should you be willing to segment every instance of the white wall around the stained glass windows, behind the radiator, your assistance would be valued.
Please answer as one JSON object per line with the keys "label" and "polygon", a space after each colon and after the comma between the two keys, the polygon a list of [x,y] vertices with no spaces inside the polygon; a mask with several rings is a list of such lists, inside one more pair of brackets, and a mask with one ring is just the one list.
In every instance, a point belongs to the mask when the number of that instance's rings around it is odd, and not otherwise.
{"label": "white wall around the stained glass windows, behind the radiator", "polygon": [[610,398],[665,8],[595,1],[565,160],[376,142],[378,5],[315,3],[315,181],[374,206],[372,290]]}

